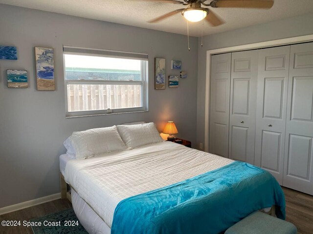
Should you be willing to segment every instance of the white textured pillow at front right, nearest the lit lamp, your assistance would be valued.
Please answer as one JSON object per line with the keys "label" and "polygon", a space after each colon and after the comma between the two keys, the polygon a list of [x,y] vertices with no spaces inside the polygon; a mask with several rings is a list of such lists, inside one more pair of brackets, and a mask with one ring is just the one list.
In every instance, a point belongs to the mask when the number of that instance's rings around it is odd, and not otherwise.
{"label": "white textured pillow at front right, nearest the lit lamp", "polygon": [[131,148],[164,141],[157,131],[155,123],[117,125],[117,130],[125,145]]}

